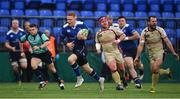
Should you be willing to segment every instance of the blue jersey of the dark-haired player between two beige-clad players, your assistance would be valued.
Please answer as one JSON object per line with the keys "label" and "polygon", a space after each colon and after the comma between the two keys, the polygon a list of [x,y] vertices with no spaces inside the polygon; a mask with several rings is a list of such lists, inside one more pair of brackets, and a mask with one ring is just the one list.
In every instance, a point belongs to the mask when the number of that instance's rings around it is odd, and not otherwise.
{"label": "blue jersey of the dark-haired player between two beige-clad players", "polygon": [[[132,36],[133,33],[136,31],[134,28],[126,24],[123,28],[120,28],[126,36]],[[137,48],[137,42],[138,40],[127,40],[120,43],[121,49],[124,51],[133,50]]]}

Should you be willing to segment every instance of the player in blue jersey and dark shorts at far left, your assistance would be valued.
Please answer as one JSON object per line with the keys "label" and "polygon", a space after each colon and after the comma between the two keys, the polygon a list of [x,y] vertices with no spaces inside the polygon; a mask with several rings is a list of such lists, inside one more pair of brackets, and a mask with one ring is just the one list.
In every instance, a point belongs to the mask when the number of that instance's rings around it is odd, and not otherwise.
{"label": "player in blue jersey and dark shorts at far left", "polygon": [[27,68],[23,46],[19,41],[19,37],[24,34],[23,29],[19,28],[19,21],[16,19],[12,20],[12,27],[6,34],[5,47],[9,50],[11,65],[19,84],[21,83],[21,68]]}

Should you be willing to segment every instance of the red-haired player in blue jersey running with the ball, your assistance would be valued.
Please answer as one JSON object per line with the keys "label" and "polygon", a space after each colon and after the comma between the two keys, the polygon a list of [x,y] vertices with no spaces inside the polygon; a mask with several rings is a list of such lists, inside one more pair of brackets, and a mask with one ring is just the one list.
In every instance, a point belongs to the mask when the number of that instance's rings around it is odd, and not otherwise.
{"label": "red-haired player in blue jersey running with the ball", "polygon": [[82,66],[83,70],[97,80],[100,84],[101,91],[104,90],[104,78],[99,75],[91,68],[86,59],[87,49],[85,46],[85,39],[78,39],[78,32],[82,29],[88,29],[86,25],[76,20],[77,16],[74,12],[67,14],[67,24],[62,28],[61,39],[64,40],[65,45],[72,50],[72,54],[68,57],[68,62],[72,66],[77,76],[77,82],[75,88],[81,86],[84,79],[80,73],[79,66]]}

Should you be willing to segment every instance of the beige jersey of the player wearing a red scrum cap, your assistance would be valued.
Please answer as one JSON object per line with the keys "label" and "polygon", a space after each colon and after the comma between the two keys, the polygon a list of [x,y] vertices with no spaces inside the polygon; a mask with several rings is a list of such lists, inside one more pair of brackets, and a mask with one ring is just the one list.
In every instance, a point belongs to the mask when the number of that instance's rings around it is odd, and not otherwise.
{"label": "beige jersey of the player wearing a red scrum cap", "polygon": [[96,43],[100,43],[102,45],[102,49],[104,52],[112,52],[118,50],[118,45],[114,44],[114,40],[116,40],[117,36],[121,36],[123,32],[113,29],[107,30],[99,30],[96,33],[95,41]]}

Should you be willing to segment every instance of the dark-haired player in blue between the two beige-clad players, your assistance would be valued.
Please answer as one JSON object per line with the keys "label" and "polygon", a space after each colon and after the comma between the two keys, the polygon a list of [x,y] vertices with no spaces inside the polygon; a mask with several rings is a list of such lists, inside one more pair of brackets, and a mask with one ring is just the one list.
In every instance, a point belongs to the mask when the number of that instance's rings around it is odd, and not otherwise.
{"label": "dark-haired player in blue between the two beige-clad players", "polygon": [[126,38],[122,43],[120,43],[120,48],[123,52],[125,64],[127,65],[130,75],[134,80],[135,87],[141,88],[141,80],[137,76],[133,63],[133,59],[136,56],[137,40],[139,39],[139,34],[133,29],[131,25],[126,24],[126,18],[124,16],[120,16],[118,18],[118,23],[120,29],[126,34]]}

